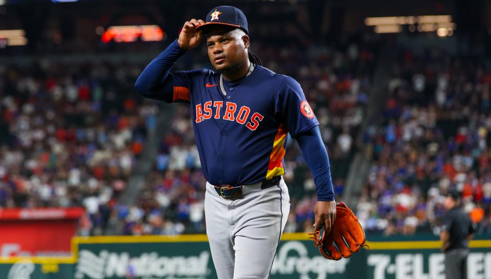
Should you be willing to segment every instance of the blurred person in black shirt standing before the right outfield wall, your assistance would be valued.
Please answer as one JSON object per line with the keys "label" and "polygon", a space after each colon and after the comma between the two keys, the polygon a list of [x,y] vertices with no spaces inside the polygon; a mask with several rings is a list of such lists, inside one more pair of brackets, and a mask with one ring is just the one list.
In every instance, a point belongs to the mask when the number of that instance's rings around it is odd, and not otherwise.
{"label": "blurred person in black shirt standing before the right outfield wall", "polygon": [[460,194],[449,191],[444,201],[447,214],[443,217],[440,240],[445,253],[445,276],[447,279],[467,278],[467,255],[469,240],[474,235],[471,218],[460,207]]}

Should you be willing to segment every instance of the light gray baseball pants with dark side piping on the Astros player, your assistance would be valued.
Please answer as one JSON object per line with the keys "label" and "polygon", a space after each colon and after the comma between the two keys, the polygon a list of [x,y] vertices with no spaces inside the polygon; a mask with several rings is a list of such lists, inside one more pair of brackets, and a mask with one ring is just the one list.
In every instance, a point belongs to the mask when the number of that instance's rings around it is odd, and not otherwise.
{"label": "light gray baseball pants with dark side piping on the Astros player", "polygon": [[290,211],[283,178],[263,190],[260,183],[244,187],[252,193],[230,200],[206,184],[206,234],[218,279],[268,278]]}

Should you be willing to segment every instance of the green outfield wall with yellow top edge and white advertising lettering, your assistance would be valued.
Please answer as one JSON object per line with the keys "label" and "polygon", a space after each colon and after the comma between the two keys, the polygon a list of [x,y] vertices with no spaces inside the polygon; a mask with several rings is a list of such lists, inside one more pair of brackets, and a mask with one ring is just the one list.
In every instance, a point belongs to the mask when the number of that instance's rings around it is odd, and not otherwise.
{"label": "green outfield wall with yellow top edge and white advertising lettering", "polygon": [[[271,278],[444,279],[440,243],[432,236],[367,237],[370,249],[349,259],[321,257],[306,234],[285,234]],[[491,279],[491,240],[471,242],[468,279]],[[205,235],[76,237],[72,256],[0,258],[5,279],[216,278]]]}

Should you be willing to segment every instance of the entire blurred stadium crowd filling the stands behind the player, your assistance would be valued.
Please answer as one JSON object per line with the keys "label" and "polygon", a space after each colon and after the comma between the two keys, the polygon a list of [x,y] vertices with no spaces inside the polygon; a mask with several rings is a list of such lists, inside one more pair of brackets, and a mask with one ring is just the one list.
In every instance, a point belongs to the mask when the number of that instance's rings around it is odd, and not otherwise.
{"label": "entire blurred stadium crowd filling the stands behind the player", "polygon": [[[370,44],[256,47],[265,66],[302,85],[328,148],[337,200],[358,148],[376,56],[361,45]],[[441,51],[399,57],[383,121],[364,131],[372,167],[356,208],[362,225],[385,235],[437,234],[444,195],[457,189],[477,233],[490,234],[489,61]],[[208,67],[206,59],[198,50],[176,69]],[[126,235],[203,233],[205,178],[189,106],[141,98],[133,83],[144,66],[1,66],[0,208],[84,206],[80,235],[104,234],[110,222]],[[172,111],[170,128],[126,206],[118,198],[160,108]],[[284,166],[292,203],[285,231],[310,231],[315,185],[291,138]]]}

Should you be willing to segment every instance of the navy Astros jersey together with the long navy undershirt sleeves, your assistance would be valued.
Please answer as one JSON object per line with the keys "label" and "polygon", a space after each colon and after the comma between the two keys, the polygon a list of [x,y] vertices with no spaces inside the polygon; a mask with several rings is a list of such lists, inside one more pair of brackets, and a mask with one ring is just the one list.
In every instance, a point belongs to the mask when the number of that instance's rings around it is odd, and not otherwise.
{"label": "navy Astros jersey together with the long navy undershirt sleeves", "polygon": [[297,137],[318,200],[334,193],[319,122],[293,78],[255,65],[251,75],[219,86],[208,69],[170,73],[186,50],[172,42],[144,69],[135,88],[145,97],[191,106],[205,178],[212,184],[252,184],[285,173],[286,134]]}

